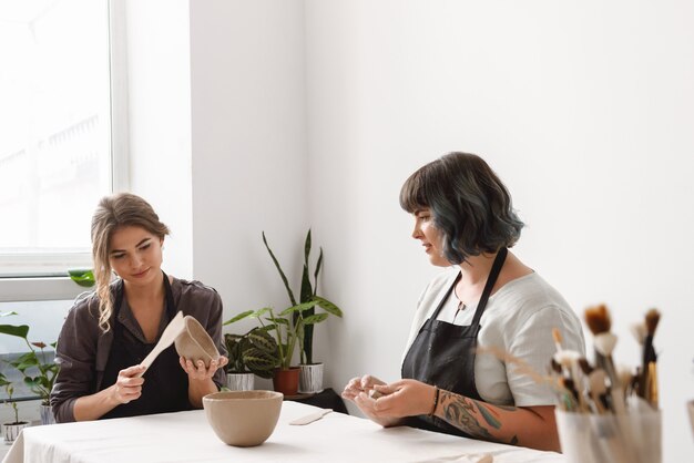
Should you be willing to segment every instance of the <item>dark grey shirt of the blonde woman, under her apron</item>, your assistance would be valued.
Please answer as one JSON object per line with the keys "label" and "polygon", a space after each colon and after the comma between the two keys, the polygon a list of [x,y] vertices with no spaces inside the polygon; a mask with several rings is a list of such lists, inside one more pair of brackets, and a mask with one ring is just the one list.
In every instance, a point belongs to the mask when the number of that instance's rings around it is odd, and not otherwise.
{"label": "dark grey shirt of the blonde woman, under her apron", "polygon": [[[200,281],[173,278],[171,282],[174,303],[183,315],[190,315],[205,327],[215,341],[220,353],[226,356],[222,339],[222,299],[213,289]],[[126,328],[127,336],[144,342],[144,336],[130,307],[123,299],[119,320]],[[111,326],[113,326],[113,318]],[[157,339],[169,323],[164,311]],[[99,298],[91,295],[78,301],[65,318],[55,349],[55,361],[60,372],[51,392],[51,405],[59,423],[74,421],[74,402],[80,397],[101,390],[103,372],[111,352],[113,329],[102,332],[99,328]],[[217,388],[225,381],[224,370],[218,369],[213,377]]]}

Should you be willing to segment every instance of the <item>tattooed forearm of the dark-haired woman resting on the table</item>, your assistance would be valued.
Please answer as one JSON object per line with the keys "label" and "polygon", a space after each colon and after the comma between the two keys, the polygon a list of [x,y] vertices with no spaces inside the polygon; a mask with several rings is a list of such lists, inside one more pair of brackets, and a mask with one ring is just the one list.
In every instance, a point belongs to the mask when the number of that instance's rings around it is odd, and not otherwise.
{"label": "tattooed forearm of the dark-haired woman resting on the table", "polygon": [[[442,419],[453,426],[476,438],[498,441],[491,431],[501,430],[499,413],[484,402],[458,395],[449,391],[440,392]],[[513,407],[503,407],[506,411],[517,410]],[[518,442],[513,438],[512,442]]]}

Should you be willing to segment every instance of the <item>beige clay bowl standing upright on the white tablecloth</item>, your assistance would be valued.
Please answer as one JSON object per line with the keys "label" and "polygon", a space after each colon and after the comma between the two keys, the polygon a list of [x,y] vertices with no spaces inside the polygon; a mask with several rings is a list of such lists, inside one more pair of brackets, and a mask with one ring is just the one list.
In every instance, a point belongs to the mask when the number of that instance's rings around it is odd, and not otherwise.
{"label": "beige clay bowl standing upright on the white tablecloth", "polygon": [[222,442],[259,445],[275,430],[284,395],[275,391],[225,391],[203,398],[207,422]]}

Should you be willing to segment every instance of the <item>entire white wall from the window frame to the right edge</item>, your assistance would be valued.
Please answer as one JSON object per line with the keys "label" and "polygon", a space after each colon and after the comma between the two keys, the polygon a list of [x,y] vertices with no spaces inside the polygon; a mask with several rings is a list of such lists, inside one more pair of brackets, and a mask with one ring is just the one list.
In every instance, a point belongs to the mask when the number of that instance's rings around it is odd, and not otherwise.
{"label": "entire white wall from the window frame to the right edge", "polygon": [[[325,248],[322,292],[345,310],[317,330],[328,384],[398,378],[416,299],[437,271],[409,237],[400,185],[448,151],[476,152],[528,224],[518,255],[578,312],[610,306],[618,360],[636,362],[629,323],[662,310],[666,461],[687,460],[694,7],[196,0],[186,45],[187,2],[131,3],[143,20],[131,101],[147,102],[131,127],[142,135],[133,189],[154,197],[174,234],[190,233],[169,264],[217,288],[226,316],[286,303],[259,233],[298,285],[310,225]],[[152,153],[173,153],[175,181]]]}

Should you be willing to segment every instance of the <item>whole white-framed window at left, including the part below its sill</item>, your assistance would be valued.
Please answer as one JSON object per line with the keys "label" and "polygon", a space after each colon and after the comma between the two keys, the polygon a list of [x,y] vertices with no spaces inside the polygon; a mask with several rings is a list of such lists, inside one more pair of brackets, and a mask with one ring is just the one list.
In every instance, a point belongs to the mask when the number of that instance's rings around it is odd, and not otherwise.
{"label": "whole white-framed window at left, including the part below its sill", "polygon": [[[0,312],[16,311],[2,322],[29,325],[31,341],[57,340],[85,289],[58,276],[91,267],[96,202],[127,186],[123,8],[0,2]],[[0,336],[0,371],[18,400],[32,393],[7,361],[25,351],[20,338]]]}

